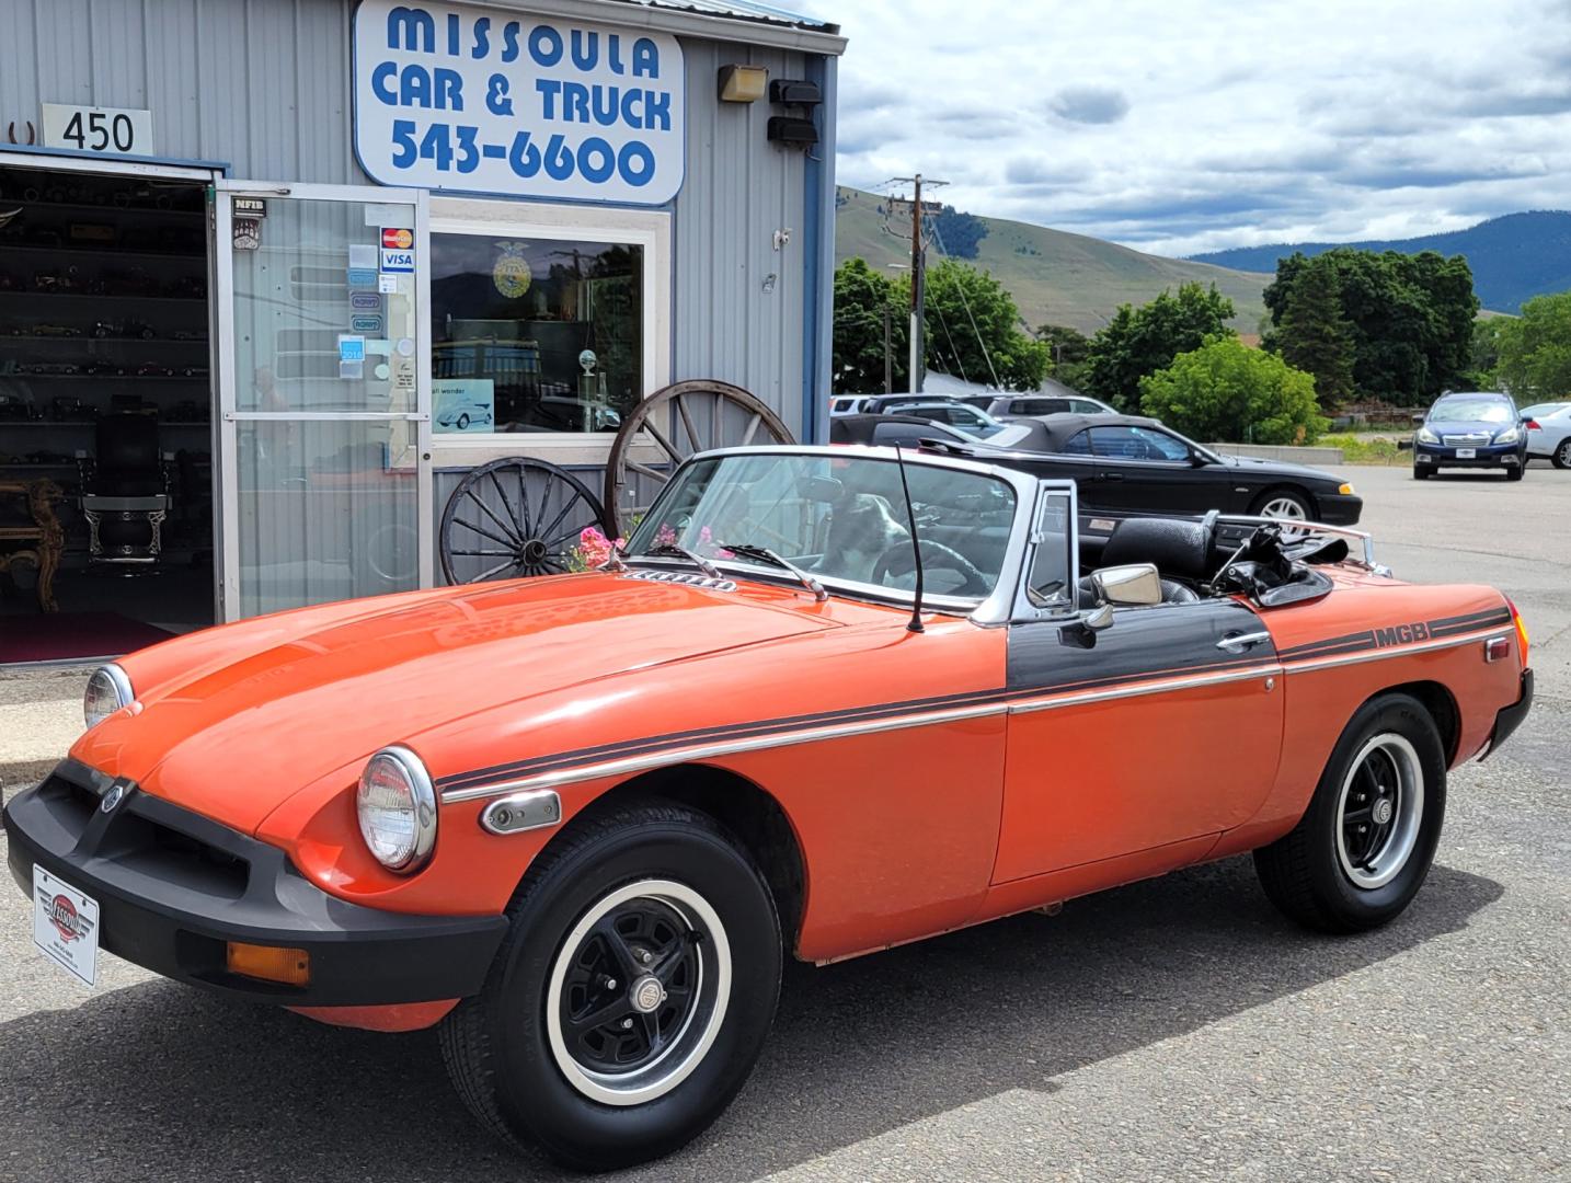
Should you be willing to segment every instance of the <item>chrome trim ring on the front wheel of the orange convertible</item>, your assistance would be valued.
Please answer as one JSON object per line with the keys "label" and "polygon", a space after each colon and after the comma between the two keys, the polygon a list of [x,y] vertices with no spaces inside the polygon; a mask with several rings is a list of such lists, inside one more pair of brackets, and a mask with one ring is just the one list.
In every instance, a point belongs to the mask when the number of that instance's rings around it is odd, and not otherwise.
{"label": "chrome trim ring on the front wheel of the orange convertible", "polygon": [[[567,979],[567,971],[583,944],[589,930],[606,916],[606,913],[635,899],[654,899],[677,911],[691,928],[702,927],[704,947],[699,957],[699,982],[696,993],[699,1002],[688,1012],[682,1029],[672,1037],[666,1051],[650,1064],[630,1073],[602,1073],[581,1065],[567,1049],[562,1035],[561,998]],[[694,919],[698,924],[694,924]],[[705,983],[713,980],[713,1002],[704,1012],[702,994]],[[693,1075],[693,1070],[704,1062],[710,1046],[720,1035],[720,1027],[726,1021],[726,1007],[731,1001],[731,941],[726,928],[720,922],[720,914],[709,900],[699,895],[685,883],[672,880],[639,880],[617,888],[610,895],[597,900],[573,925],[562,939],[551,963],[551,976],[545,988],[545,1035],[551,1049],[551,1059],[567,1082],[580,1093],[602,1104],[644,1104],[658,1097],[665,1097],[682,1081]],[[694,1021],[702,1021],[702,1029],[693,1031]]]}

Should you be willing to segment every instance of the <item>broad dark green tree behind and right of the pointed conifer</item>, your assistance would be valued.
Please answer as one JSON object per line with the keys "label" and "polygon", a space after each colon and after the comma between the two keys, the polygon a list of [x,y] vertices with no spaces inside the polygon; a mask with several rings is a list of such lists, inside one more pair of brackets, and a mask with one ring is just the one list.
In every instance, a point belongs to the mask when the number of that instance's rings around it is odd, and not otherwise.
{"label": "broad dark green tree behind and right of the pointed conifer", "polygon": [[1332,269],[1337,277],[1342,314],[1353,338],[1357,394],[1411,405],[1463,383],[1478,313],[1467,259],[1353,247],[1337,247],[1313,261],[1295,253],[1277,264],[1276,281],[1265,289],[1266,308],[1279,328],[1310,262]]}

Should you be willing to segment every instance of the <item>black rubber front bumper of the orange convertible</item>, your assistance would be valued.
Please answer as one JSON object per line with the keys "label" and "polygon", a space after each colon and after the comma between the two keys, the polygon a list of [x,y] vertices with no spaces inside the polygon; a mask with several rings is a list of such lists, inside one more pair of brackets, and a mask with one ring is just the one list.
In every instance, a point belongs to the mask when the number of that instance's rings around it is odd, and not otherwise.
{"label": "black rubber front bumper of the orange convertible", "polygon": [[[101,806],[113,787],[119,803]],[[33,866],[99,905],[99,947],[178,982],[284,1005],[385,1005],[479,993],[504,916],[364,908],[309,883],[283,850],[75,762],[3,811],[11,875]],[[231,974],[226,943],[305,949],[311,982]]]}

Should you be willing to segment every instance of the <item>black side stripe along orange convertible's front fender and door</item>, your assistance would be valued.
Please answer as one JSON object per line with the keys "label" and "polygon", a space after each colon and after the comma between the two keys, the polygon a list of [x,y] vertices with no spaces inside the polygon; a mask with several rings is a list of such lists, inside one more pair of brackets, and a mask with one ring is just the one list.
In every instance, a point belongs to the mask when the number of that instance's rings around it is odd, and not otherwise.
{"label": "black side stripe along orange convertible's front fender and door", "polygon": [[437,781],[437,787],[441,790],[456,789],[473,789],[492,781],[507,781],[518,779],[523,776],[534,776],[539,773],[561,771],[562,768],[570,768],[580,764],[597,764],[605,759],[621,759],[630,756],[644,756],[650,751],[658,751],[660,748],[671,748],[677,745],[698,745],[712,743],[716,740],[745,740],[745,738],[760,738],[765,735],[776,735],[781,732],[800,731],[817,726],[828,726],[834,723],[872,723],[886,718],[897,718],[900,715],[924,715],[933,710],[949,710],[954,707],[969,707],[969,705],[990,705],[1001,704],[1007,705],[1020,699],[1043,698],[1048,694],[1060,693],[1076,693],[1087,690],[1101,690],[1111,685],[1134,683],[1152,679],[1186,676],[1186,674],[1211,674],[1225,669],[1254,666],[1260,665],[1260,657],[1224,657],[1214,661],[1205,661],[1189,666],[1175,666],[1170,669],[1152,669],[1141,671],[1137,676],[1122,674],[1119,677],[1098,677],[1098,679],[1082,679],[1079,682],[1064,682],[1048,687],[1029,687],[1021,690],[977,690],[961,694],[944,694],[939,698],[927,699],[908,699],[905,702],[880,704],[872,707],[850,707],[845,710],[829,710],[818,712],[814,715],[792,715],[786,718],[775,720],[756,720],[751,723],[731,723],[716,727],[699,727],[694,731],[668,732],[665,735],[649,735],[639,740],[624,740],[619,743],[602,743],[594,748],[577,748],[569,753],[556,753],[550,756],[537,756],[528,760],[515,760],[512,764],[500,764],[490,768],[479,768],[474,771],[454,773],[452,776],[443,776]]}

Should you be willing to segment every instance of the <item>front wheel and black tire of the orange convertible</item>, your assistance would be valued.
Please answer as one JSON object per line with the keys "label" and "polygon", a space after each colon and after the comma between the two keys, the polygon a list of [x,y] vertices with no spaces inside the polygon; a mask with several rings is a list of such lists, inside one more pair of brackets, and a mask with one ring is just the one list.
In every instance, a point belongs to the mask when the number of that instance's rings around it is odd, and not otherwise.
{"label": "front wheel and black tire of the orange convertible", "polygon": [[509,1142],[610,1170],[698,1136],[742,1089],[779,996],[781,932],[746,850],[674,804],[581,823],[529,869],[441,1051]]}

